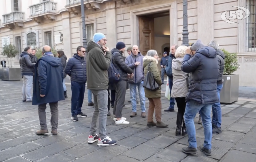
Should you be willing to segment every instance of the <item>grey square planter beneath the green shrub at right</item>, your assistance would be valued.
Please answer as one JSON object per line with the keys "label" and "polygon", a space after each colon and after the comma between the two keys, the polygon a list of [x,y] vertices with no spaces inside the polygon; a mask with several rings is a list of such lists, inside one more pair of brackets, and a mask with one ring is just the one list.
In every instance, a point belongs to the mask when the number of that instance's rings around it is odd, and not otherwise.
{"label": "grey square planter beneath the green shrub at right", "polygon": [[223,75],[223,88],[220,91],[220,103],[231,104],[238,101],[239,75]]}

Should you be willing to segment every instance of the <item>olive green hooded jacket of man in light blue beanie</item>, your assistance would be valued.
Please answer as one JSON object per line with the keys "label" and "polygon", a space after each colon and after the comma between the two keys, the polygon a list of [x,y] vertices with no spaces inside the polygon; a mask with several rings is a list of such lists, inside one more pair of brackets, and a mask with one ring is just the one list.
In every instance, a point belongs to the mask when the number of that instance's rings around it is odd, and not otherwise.
{"label": "olive green hooded jacket of man in light blue beanie", "polygon": [[108,68],[111,63],[111,52],[106,55],[100,45],[92,40],[87,45],[87,89],[107,90],[109,85]]}

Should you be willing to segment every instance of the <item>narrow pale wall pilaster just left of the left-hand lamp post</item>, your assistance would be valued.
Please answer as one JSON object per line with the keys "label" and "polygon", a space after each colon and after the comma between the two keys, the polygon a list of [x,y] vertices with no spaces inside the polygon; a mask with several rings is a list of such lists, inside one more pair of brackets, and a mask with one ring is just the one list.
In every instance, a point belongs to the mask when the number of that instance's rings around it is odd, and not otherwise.
{"label": "narrow pale wall pilaster just left of the left-hand lamp post", "polygon": [[68,11],[62,13],[63,51],[68,58],[72,57],[70,19]]}

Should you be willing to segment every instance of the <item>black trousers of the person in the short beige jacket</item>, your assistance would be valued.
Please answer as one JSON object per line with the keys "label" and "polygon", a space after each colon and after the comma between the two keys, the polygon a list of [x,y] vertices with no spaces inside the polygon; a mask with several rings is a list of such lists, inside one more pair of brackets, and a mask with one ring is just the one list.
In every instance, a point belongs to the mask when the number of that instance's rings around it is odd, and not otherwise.
{"label": "black trousers of the person in the short beige jacket", "polygon": [[183,128],[186,128],[184,118],[183,118],[185,109],[186,109],[186,104],[187,104],[186,98],[185,97],[177,97],[177,98],[175,98],[175,100],[177,102],[177,107],[178,107],[177,121],[176,121],[177,128],[181,129],[182,121],[183,121]]}

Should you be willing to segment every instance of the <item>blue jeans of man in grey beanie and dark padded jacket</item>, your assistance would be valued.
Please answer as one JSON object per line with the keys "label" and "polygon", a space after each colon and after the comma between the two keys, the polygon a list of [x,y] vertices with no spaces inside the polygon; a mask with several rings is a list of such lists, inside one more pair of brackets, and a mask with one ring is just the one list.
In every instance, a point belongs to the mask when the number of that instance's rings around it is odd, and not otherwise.
{"label": "blue jeans of man in grey beanie and dark padded jacket", "polygon": [[194,118],[200,111],[204,134],[205,134],[205,149],[211,149],[212,127],[211,127],[211,104],[200,104],[195,100],[188,100],[186,104],[186,110],[184,114],[184,120],[186,129],[188,132],[189,147],[196,148],[196,128],[194,124]]}

